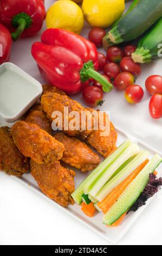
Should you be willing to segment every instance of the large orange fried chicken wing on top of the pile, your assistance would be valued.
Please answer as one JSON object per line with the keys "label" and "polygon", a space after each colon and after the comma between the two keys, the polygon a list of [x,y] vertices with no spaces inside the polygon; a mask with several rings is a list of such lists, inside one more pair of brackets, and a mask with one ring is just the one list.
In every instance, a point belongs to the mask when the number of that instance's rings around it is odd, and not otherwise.
{"label": "large orange fried chicken wing on top of the pile", "polygon": [[[51,121],[56,119],[56,117],[52,117],[54,111],[62,114],[62,130],[69,136],[80,135],[82,139],[85,139],[92,133],[94,126],[92,114],[70,97],[50,92],[45,93],[41,97],[41,106]],[[75,115],[72,115],[74,111],[78,117],[77,123],[74,121],[74,119],[76,120]],[[69,116],[70,114],[71,116]],[[85,117],[85,120],[82,117]]]}

